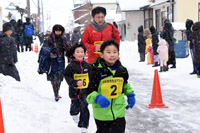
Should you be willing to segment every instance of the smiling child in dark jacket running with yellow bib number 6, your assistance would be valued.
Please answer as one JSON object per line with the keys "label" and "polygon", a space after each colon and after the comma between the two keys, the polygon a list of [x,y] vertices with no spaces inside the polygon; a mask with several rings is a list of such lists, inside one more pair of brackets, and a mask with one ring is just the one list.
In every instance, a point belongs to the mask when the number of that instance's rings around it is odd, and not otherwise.
{"label": "smiling child in dark jacket running with yellow bib number 6", "polygon": [[73,58],[73,60],[64,71],[64,77],[69,85],[69,97],[71,98],[70,115],[75,123],[78,123],[82,132],[87,131],[90,117],[86,97],[89,91],[91,65],[84,61],[85,54],[84,44],[73,44],[67,53],[67,56]]}

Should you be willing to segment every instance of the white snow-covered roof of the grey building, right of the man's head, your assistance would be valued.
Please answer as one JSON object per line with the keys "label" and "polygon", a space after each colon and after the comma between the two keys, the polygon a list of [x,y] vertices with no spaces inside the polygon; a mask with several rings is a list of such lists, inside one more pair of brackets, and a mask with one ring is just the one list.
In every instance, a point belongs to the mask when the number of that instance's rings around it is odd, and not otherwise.
{"label": "white snow-covered roof of the grey building, right of the man's head", "polygon": [[121,11],[140,10],[141,7],[150,5],[149,0],[118,0]]}

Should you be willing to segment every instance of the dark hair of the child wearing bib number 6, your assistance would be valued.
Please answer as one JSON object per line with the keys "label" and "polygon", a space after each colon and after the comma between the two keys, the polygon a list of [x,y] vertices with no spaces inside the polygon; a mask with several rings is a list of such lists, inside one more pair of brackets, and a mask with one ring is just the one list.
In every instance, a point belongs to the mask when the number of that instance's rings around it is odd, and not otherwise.
{"label": "dark hair of the child wearing bib number 6", "polygon": [[73,54],[74,54],[76,48],[79,48],[79,47],[83,48],[84,53],[86,53],[86,47],[85,47],[85,45],[82,42],[80,42],[80,43],[73,44],[70,47],[69,51],[66,53],[66,56],[69,57],[69,58],[74,58]]}

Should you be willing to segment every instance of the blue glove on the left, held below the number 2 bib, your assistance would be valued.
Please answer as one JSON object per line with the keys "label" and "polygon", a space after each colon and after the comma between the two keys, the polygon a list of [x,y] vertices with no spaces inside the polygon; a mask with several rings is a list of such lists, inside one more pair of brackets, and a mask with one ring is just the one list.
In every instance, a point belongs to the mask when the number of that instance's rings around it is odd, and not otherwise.
{"label": "blue glove on the left, held below the number 2 bib", "polygon": [[96,96],[95,103],[98,104],[101,108],[107,108],[110,105],[110,101],[101,94]]}

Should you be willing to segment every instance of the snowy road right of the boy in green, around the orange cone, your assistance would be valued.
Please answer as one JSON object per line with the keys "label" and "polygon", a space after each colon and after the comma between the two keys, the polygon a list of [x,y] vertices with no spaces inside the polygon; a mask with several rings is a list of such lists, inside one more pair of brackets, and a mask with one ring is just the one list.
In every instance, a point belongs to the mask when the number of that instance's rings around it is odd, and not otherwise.
{"label": "snowy road right of the boy in green, around the orange cone", "polygon": [[[177,59],[177,69],[159,73],[163,103],[169,108],[148,109],[155,68],[138,62],[137,47],[133,46],[137,43],[124,45],[121,60],[136,93],[136,105],[126,113],[126,133],[199,133],[200,88],[196,75],[189,75],[191,57]],[[127,49],[132,52],[127,54]]]}

